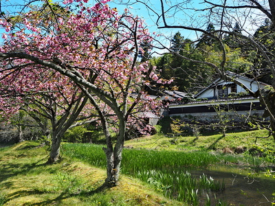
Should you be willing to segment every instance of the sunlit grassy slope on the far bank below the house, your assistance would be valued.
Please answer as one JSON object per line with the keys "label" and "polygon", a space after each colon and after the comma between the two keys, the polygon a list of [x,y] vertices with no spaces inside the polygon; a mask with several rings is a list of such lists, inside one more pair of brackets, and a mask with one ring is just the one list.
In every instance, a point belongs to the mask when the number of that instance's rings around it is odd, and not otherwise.
{"label": "sunlit grassy slope on the far bank below the house", "polygon": [[[126,141],[128,148],[148,148],[157,150],[223,150],[230,148],[234,150],[238,146],[252,148],[255,145],[256,137],[267,137],[265,130],[253,130],[249,132],[228,133],[222,135],[210,135],[196,137],[165,137],[164,135],[153,135]],[[256,145],[274,150],[275,141],[272,137],[257,139]]]}

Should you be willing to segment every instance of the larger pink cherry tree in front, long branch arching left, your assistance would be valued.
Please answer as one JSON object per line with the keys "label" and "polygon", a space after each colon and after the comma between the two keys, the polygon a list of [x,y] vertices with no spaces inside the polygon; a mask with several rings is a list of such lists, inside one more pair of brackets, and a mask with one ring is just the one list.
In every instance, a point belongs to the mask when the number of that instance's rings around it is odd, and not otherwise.
{"label": "larger pink cherry tree in front, long branch arching left", "polygon": [[[2,19],[0,23],[6,32],[2,35],[5,42],[0,57],[2,71],[9,70],[8,65],[14,69],[31,65],[40,74],[51,69],[78,85],[100,116],[107,139],[105,183],[114,186],[120,174],[127,128],[142,121],[143,112],[157,113],[161,108],[160,102],[146,94],[145,87],[151,80],[158,84],[169,81],[160,79],[148,62],[138,60],[144,52],[142,43],[152,41],[142,19],[128,10],[118,14],[107,2],[101,1],[91,8],[80,2],[78,10],[68,12],[67,16],[56,15],[54,22],[49,22],[48,32],[41,30],[40,19],[34,12],[24,14],[23,28],[17,31],[12,30],[12,23]],[[64,9],[69,11],[68,7]],[[32,78],[32,73],[28,75]],[[110,135],[110,115],[112,122],[117,122],[115,143]],[[143,132],[150,129],[142,128]]]}

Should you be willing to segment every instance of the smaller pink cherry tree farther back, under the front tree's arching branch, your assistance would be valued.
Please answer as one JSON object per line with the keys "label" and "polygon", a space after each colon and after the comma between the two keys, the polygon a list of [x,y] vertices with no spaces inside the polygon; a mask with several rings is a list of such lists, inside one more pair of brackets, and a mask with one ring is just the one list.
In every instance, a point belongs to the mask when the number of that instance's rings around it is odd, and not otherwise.
{"label": "smaller pink cherry tree farther back, under the front tree's arching branch", "polygon": [[[43,133],[51,136],[48,163],[58,161],[64,133],[69,128],[98,119],[92,106],[87,104],[88,98],[74,82],[52,69],[43,71],[35,65],[19,68],[16,61],[14,65],[3,67],[0,74],[1,115],[9,119],[20,110],[28,113]],[[52,131],[45,127],[43,118],[50,121]]]}

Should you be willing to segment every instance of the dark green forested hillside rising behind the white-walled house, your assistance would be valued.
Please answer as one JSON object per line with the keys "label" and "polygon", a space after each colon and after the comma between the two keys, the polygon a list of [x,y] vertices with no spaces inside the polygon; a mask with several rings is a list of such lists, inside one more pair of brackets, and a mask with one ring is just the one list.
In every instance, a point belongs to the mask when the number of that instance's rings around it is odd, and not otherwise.
{"label": "dark green forested hillside rising behind the white-walled house", "polygon": [[[239,23],[235,23],[233,29],[234,33],[242,33]],[[215,30],[212,23],[206,27],[207,32]],[[272,23],[269,19],[265,19],[254,32],[254,41],[262,43],[267,48],[273,48],[274,36],[270,35],[271,30]],[[240,42],[235,34],[225,34],[221,37],[221,41],[227,53],[225,71],[241,73],[248,78],[272,84],[270,78],[272,73],[266,69],[267,62],[263,57],[255,54],[250,45],[243,45],[243,42]],[[168,52],[162,56],[151,58],[151,64],[156,65],[161,71],[162,78],[174,79],[170,85],[166,85],[166,89],[195,94],[219,78],[219,75],[213,67],[189,59],[219,64],[222,61],[222,56],[219,55],[222,48],[219,44],[217,39],[206,34],[202,34],[199,41],[191,41],[177,32],[170,39]],[[182,58],[182,56],[188,59]]]}

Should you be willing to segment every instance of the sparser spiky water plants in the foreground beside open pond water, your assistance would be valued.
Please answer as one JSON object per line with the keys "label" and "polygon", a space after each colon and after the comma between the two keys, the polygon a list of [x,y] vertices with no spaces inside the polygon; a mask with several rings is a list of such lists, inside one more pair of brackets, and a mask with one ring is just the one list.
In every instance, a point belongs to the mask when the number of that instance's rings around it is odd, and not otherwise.
{"label": "sparser spiky water plants in the foreground beside open pond water", "polygon": [[225,188],[224,182],[215,181],[210,176],[203,174],[195,179],[190,172],[182,170],[143,170],[136,177],[147,181],[169,198],[192,205],[199,205],[199,196],[202,193],[218,192]]}

